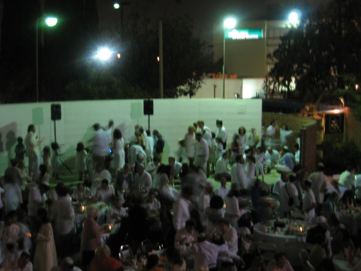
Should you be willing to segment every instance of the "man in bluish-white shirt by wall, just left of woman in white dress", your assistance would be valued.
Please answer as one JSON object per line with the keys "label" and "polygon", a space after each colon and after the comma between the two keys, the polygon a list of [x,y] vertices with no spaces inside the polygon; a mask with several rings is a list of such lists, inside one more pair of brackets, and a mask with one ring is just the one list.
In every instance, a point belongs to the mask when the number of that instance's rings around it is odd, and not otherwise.
{"label": "man in bluish-white shirt by wall, just left of woman in white dress", "polygon": [[104,162],[106,155],[109,154],[109,143],[111,142],[111,135],[104,131],[99,123],[93,125],[94,136],[89,140],[93,143],[93,168],[96,167],[98,162]]}

